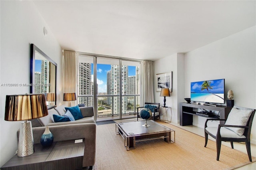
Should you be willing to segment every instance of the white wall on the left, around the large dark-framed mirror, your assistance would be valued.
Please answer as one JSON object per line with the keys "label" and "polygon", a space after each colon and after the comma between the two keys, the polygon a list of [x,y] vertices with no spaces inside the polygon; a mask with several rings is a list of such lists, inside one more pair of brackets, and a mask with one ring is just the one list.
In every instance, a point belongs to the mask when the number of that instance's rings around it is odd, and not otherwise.
{"label": "white wall on the left, around the large dark-framed mirror", "polygon": [[[0,83],[30,83],[30,43],[34,43],[57,63],[57,101],[62,100],[62,49],[33,2],[0,1],[0,8]],[[15,154],[20,128],[20,121],[4,121],[6,95],[29,92],[29,87],[0,87],[0,166]]]}

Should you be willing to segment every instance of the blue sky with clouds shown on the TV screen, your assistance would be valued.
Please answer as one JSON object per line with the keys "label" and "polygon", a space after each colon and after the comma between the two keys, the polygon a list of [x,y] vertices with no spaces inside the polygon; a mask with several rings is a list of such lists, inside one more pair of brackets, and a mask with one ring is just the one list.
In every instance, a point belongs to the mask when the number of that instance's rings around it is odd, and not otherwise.
{"label": "blue sky with clouds shown on the TV screen", "polygon": [[[211,93],[224,93],[224,88],[225,88],[224,79],[209,80],[209,81],[211,82],[210,86],[212,86],[212,89],[209,89]],[[201,90],[203,82],[204,81],[191,82],[191,93],[208,93],[206,89]]]}

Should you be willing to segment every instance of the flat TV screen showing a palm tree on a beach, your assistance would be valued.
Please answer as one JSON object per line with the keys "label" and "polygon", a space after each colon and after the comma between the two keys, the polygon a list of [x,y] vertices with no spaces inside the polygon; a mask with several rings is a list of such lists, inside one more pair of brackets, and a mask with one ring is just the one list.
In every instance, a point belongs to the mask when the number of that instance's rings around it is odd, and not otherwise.
{"label": "flat TV screen showing a palm tree on a beach", "polygon": [[190,100],[205,103],[225,103],[225,79],[191,82]]}

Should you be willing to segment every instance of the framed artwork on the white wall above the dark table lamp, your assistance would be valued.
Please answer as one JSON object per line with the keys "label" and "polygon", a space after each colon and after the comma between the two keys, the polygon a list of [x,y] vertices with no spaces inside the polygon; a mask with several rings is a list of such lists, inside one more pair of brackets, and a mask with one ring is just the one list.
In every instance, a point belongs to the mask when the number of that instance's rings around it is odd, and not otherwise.
{"label": "framed artwork on the white wall above the dark table lamp", "polygon": [[172,71],[156,74],[156,91],[161,91],[162,88],[169,88],[172,92]]}

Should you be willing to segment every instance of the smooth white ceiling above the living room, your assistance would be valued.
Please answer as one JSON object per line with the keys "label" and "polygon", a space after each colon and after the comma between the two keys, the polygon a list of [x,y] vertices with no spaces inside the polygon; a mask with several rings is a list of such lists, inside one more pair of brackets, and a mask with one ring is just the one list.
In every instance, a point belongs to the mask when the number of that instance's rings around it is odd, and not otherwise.
{"label": "smooth white ceiling above the living room", "polygon": [[255,26],[256,1],[34,1],[66,50],[157,60]]}

